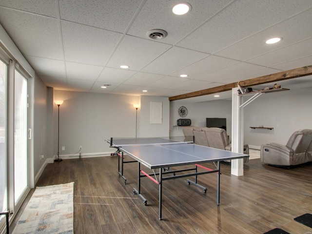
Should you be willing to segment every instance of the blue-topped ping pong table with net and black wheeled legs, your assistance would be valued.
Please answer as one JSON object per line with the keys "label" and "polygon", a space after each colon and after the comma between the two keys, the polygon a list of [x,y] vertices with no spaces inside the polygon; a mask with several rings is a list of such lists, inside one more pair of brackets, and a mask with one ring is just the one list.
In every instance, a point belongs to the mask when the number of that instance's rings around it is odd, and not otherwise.
{"label": "blue-topped ping pong table with net and black wheeled legs", "polygon": [[[196,145],[191,142],[181,142],[180,140],[169,139],[168,137],[146,137],[146,138],[110,138],[106,139],[110,147],[117,149],[118,157],[118,176],[124,179],[123,175],[124,163],[138,163],[137,169],[137,189],[133,188],[134,194],[137,194],[147,205],[147,200],[141,195],[141,177],[148,177],[159,186],[158,198],[158,215],[159,220],[162,218],[162,183],[165,180],[195,176],[195,181],[187,179],[187,183],[194,184],[203,189],[206,193],[207,188],[197,183],[197,176],[204,174],[217,174],[217,205],[220,203],[220,161],[232,160],[249,157],[249,155],[234,153],[225,150],[219,150],[206,146]],[[124,161],[124,154],[130,156],[132,161]],[[120,164],[121,158],[121,164]],[[201,163],[213,162],[215,169],[210,169],[200,165]],[[146,173],[141,170],[141,164],[152,169],[159,169],[158,173]],[[180,170],[172,170],[172,167],[194,165],[192,168],[183,168]],[[120,171],[121,168],[121,171]],[[200,170],[198,170],[201,168]],[[182,173],[181,172],[190,172]],[[171,176],[164,176],[172,174]],[[177,175],[179,174],[179,175]],[[154,177],[153,177],[154,176]],[[157,179],[156,176],[159,176]]]}

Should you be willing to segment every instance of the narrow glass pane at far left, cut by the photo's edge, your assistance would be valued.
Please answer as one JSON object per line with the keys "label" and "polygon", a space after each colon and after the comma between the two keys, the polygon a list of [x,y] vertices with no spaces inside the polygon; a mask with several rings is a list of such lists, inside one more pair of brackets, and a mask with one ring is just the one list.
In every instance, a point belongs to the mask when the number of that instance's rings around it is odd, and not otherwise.
{"label": "narrow glass pane at far left, cut by the photo's edge", "polygon": [[0,212],[7,211],[7,156],[6,156],[6,80],[7,65],[0,60]]}

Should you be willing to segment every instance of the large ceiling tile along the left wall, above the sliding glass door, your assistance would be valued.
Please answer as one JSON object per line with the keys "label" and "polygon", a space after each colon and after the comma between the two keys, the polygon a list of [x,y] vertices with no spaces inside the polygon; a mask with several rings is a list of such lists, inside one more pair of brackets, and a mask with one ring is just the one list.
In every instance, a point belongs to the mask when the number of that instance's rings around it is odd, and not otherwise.
{"label": "large ceiling tile along the left wall, above the sliding glass door", "polygon": [[0,7],[0,23],[24,56],[63,59],[58,20]]}

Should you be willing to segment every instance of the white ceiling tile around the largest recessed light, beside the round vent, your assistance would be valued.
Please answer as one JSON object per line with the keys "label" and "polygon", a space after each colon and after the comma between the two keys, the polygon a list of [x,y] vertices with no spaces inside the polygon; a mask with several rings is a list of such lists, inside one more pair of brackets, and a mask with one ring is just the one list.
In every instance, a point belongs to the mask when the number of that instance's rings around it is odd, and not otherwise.
{"label": "white ceiling tile around the largest recessed light, beside the round vent", "polygon": [[162,29],[168,33],[168,36],[161,39],[161,42],[175,44],[230,1],[188,0],[188,3],[192,5],[192,10],[184,16],[177,16],[171,11],[176,0],[147,0],[127,34],[147,38],[148,31]]}

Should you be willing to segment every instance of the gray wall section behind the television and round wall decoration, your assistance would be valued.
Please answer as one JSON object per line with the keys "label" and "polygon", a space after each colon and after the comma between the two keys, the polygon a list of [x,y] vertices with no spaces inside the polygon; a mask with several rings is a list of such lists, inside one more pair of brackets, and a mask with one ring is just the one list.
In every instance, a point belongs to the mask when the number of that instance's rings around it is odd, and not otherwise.
{"label": "gray wall section behind the television and round wall decoration", "polygon": [[198,103],[181,101],[170,102],[170,136],[183,136],[181,127],[176,126],[176,120],[181,118],[178,114],[180,106],[185,106],[188,114],[183,118],[190,118],[193,126],[206,127],[206,118],[226,118],[227,133],[231,136],[232,128],[232,101],[214,100]]}

